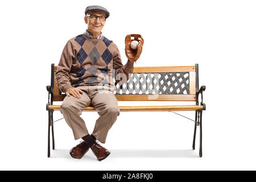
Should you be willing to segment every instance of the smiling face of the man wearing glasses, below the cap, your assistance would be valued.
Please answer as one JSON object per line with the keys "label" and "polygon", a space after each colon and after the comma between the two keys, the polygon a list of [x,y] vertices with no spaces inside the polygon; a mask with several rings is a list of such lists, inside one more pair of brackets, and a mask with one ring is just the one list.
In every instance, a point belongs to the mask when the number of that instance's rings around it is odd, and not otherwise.
{"label": "smiling face of the man wearing glasses, below the cap", "polygon": [[[90,11],[88,14],[96,15],[96,16],[106,16],[106,14],[101,11]],[[100,17],[93,20],[90,18],[90,16],[85,16],[84,20],[85,20],[85,23],[88,24],[88,31],[94,34],[100,34],[106,22],[106,20],[102,22],[100,20]]]}

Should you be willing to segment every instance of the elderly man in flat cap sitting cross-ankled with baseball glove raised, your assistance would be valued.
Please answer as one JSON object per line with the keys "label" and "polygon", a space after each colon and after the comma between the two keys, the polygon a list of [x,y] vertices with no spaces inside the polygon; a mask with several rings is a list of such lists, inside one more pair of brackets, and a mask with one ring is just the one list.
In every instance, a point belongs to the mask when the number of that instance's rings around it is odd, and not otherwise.
{"label": "elderly man in flat cap sitting cross-ankled with baseball glove raised", "polygon": [[[57,65],[56,81],[61,92],[67,94],[60,107],[75,139],[84,140],[73,147],[70,155],[80,159],[89,150],[98,160],[109,156],[110,151],[98,142],[105,143],[108,131],[119,115],[118,102],[114,96],[115,78],[118,74],[129,79],[133,73],[134,61],[142,52],[143,38],[137,36],[138,49],[130,49],[131,35],[126,36],[125,65],[122,64],[118,47],[113,41],[102,35],[102,28],[109,17],[109,11],[101,6],[88,6],[85,9],[85,23],[88,29],[81,35],[68,40]],[[97,119],[92,134],[89,134],[84,120],[80,117],[87,106],[96,108],[100,117]]]}

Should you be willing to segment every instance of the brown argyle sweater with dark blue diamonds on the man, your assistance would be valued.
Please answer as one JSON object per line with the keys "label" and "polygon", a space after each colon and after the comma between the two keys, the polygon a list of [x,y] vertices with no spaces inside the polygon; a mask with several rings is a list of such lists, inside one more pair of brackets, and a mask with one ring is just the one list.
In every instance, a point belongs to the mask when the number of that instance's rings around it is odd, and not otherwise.
{"label": "brown argyle sweater with dark blue diamonds on the man", "polygon": [[[114,92],[113,78],[115,82],[129,80],[133,64],[127,60],[123,65],[118,47],[105,36],[91,39],[81,34],[68,40],[65,45],[55,78],[57,86],[64,93],[72,86],[85,85],[106,85]],[[121,79],[120,75],[117,76],[120,73]]]}

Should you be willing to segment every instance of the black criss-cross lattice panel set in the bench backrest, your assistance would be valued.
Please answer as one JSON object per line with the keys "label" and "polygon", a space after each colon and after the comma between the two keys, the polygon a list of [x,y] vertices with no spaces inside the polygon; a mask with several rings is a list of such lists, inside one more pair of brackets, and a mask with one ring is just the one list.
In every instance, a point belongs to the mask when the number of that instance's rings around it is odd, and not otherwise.
{"label": "black criss-cross lattice panel set in the bench backrest", "polygon": [[115,94],[189,94],[189,72],[133,73]]}

